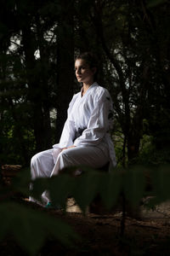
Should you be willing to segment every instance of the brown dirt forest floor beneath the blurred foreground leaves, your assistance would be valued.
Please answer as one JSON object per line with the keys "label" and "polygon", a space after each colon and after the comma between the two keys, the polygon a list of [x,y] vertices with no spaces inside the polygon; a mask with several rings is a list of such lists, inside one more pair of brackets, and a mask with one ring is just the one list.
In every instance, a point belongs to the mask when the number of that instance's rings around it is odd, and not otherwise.
{"label": "brown dirt forest floor beneath the blurred foreground leaves", "polygon": [[[31,207],[35,207],[30,205]],[[67,214],[54,209],[46,211],[62,218],[81,237],[72,247],[65,247],[58,241],[49,240],[38,256],[79,256],[79,255],[170,255],[170,202],[157,206],[154,211],[140,207],[140,218],[126,217],[125,232],[121,235],[122,212],[118,209],[108,214],[82,212],[70,201]],[[1,256],[27,255],[14,241],[0,243]]]}

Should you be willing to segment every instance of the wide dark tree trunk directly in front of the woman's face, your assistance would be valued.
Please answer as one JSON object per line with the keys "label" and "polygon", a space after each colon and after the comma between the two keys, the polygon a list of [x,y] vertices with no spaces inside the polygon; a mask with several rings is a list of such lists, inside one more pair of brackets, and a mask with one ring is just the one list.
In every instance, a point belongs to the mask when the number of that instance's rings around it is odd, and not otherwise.
{"label": "wide dark tree trunk directly in front of the woman's face", "polygon": [[[73,7],[69,0],[61,3],[59,17],[57,54],[57,120],[55,140],[59,142],[67,118],[67,108],[73,95],[74,85],[74,26]],[[73,4],[73,3],[72,3]],[[69,5],[69,7],[68,7]],[[67,8],[65,9],[65,7]]]}

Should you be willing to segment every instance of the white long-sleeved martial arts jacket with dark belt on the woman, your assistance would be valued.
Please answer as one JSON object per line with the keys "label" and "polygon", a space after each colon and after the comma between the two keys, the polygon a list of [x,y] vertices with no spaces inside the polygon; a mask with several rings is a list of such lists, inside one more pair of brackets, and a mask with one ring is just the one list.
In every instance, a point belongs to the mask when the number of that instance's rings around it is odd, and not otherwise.
{"label": "white long-sleeved martial arts jacket with dark belt on the woman", "polygon": [[[109,150],[110,166],[116,166],[114,144],[109,131],[112,127],[111,96],[104,87],[96,82],[92,84],[82,96],[82,91],[73,96],[58,144],[53,148],[67,148],[72,145],[88,147],[95,146],[102,151]],[[82,135],[78,131],[82,131]],[[75,139],[75,137],[77,137]],[[53,151],[54,163],[58,157],[58,151]]]}

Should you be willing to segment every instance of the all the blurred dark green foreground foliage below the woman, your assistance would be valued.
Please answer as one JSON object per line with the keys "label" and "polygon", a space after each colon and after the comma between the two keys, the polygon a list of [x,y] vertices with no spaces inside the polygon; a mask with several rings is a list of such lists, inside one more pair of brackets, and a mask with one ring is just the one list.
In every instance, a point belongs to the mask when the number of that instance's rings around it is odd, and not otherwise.
{"label": "all the blurred dark green foreground foliage below the woman", "polygon": [[[76,167],[67,170],[76,171]],[[170,199],[170,166],[131,166],[115,168],[110,173],[97,172],[81,166],[82,175],[75,177],[68,172],[51,178],[38,178],[33,181],[33,190],[29,192],[30,172],[25,169],[14,178],[12,187],[0,187],[0,218],[3,219],[0,239],[14,236],[20,247],[30,255],[35,255],[48,236],[52,236],[65,246],[73,246],[75,239],[80,239],[67,224],[51,217],[45,211],[31,209],[31,204],[16,203],[12,200],[13,192],[33,196],[41,202],[41,195],[48,190],[53,205],[60,205],[66,210],[68,197],[73,197],[77,205],[86,212],[87,207],[100,195],[106,209],[114,209],[122,195],[131,207],[139,207],[144,196],[151,195],[147,207]],[[148,177],[150,190],[147,190]],[[15,194],[14,194],[15,195]],[[13,197],[14,197],[13,195]]]}

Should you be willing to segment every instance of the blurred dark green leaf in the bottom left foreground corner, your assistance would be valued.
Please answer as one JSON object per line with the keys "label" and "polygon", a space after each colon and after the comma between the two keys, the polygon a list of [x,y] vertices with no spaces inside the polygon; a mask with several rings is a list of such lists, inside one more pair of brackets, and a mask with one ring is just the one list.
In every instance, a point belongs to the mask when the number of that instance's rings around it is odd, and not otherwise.
{"label": "blurred dark green leaf in the bottom left foreground corner", "polygon": [[16,203],[0,205],[0,239],[7,235],[14,239],[30,255],[35,255],[48,236],[54,236],[59,242],[71,246],[78,236],[68,224],[48,216],[45,212],[37,212]]}

